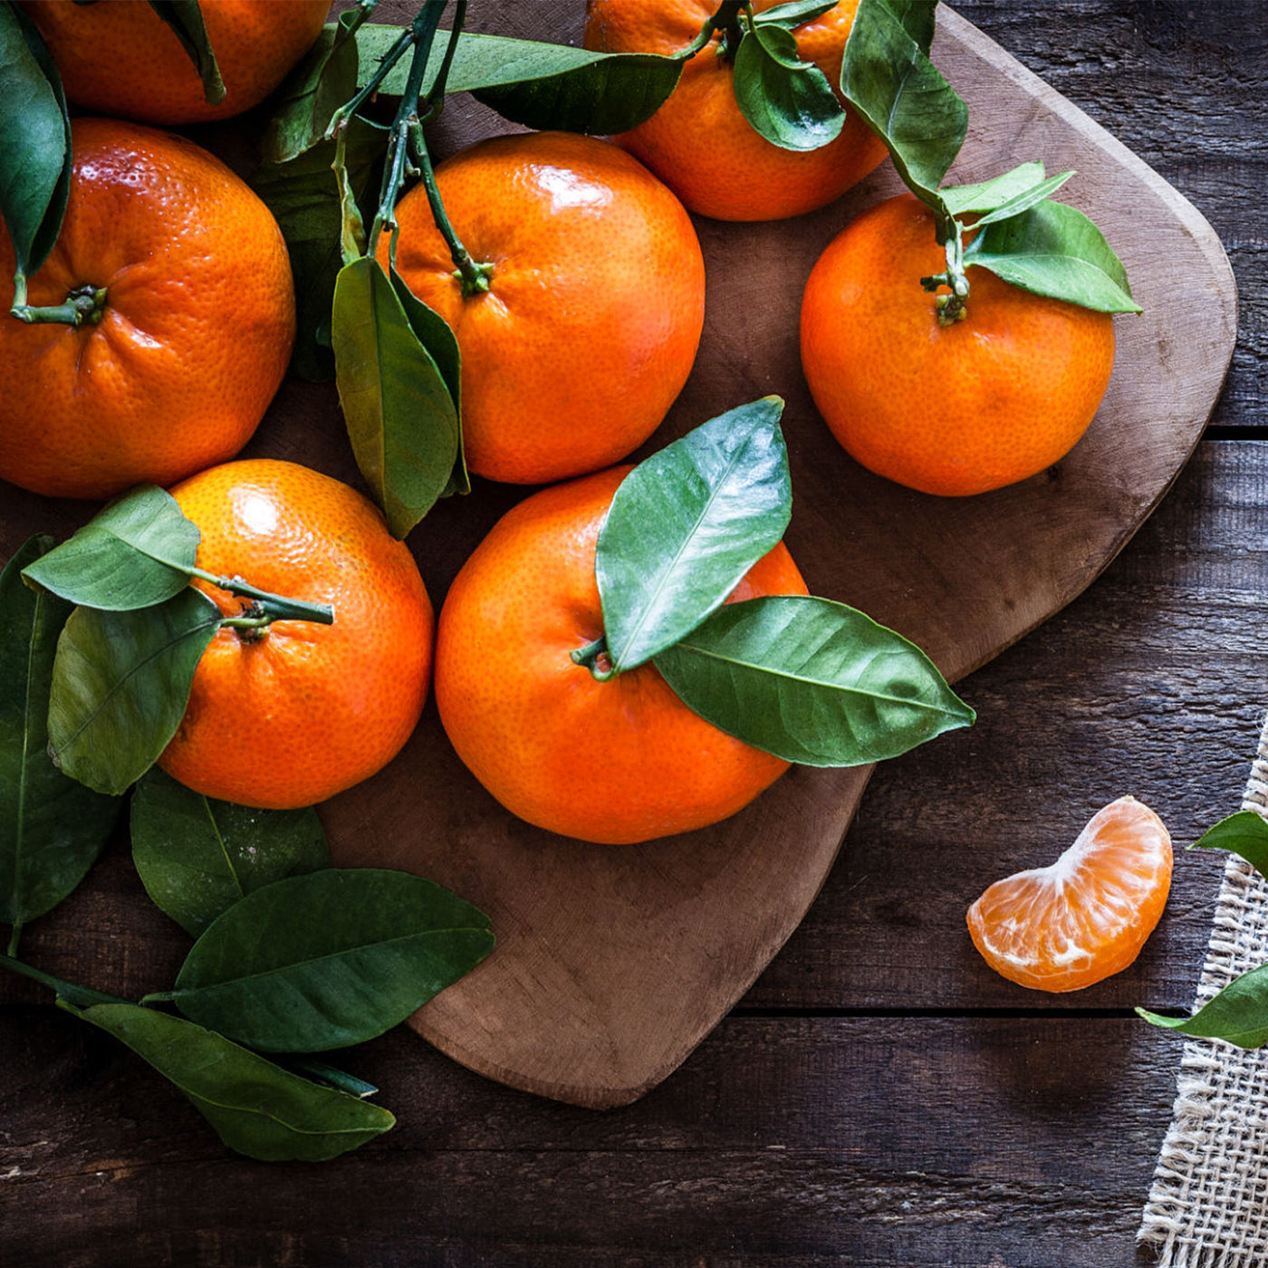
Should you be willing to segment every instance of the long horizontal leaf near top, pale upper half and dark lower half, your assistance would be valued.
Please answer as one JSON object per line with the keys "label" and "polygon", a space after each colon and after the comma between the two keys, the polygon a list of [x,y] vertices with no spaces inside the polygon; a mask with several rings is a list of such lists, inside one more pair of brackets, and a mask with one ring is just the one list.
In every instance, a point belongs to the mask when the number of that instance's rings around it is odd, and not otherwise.
{"label": "long horizontal leaf near top, pale upper half and dark lower half", "polygon": [[[363,82],[399,33],[398,27],[370,23],[358,32]],[[424,77],[427,87],[440,68],[448,34],[437,34]],[[408,58],[403,58],[384,79],[379,94],[399,96],[407,72]],[[596,53],[463,32],[445,89],[473,93],[503,118],[529,128],[610,136],[649,119],[681,74],[681,62],[654,53]]]}

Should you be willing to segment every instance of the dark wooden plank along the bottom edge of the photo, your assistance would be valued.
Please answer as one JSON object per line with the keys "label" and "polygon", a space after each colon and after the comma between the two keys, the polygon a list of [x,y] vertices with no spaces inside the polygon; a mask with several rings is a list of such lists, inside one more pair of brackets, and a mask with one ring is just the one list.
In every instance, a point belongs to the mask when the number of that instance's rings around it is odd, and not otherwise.
{"label": "dark wooden plank along the bottom edge of the photo", "polygon": [[265,1167],[105,1036],[3,1017],[0,1262],[24,1268],[1127,1264],[1177,1055],[1120,1019],[730,1019],[593,1115],[398,1030],[349,1063],[398,1127]]}

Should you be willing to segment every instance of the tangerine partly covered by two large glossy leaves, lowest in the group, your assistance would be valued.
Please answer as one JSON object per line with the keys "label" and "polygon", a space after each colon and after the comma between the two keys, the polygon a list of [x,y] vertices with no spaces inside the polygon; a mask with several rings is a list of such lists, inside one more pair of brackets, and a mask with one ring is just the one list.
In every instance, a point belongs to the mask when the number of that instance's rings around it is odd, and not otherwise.
{"label": "tangerine partly covered by two large glossy leaves, lowest in the group", "polygon": [[[436,705],[458,756],[514,814],[605,844],[716,823],[789,763],[692,713],[650,663],[600,682],[572,652],[604,633],[595,548],[625,468],[505,515],[440,612]],[[804,595],[784,544],[730,600]]]}

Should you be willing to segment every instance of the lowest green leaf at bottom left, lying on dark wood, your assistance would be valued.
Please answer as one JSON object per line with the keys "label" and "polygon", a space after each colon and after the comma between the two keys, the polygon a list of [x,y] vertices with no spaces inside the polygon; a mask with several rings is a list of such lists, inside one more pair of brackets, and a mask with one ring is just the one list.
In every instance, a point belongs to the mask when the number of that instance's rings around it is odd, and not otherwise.
{"label": "lowest green leaf at bottom left, lying on dark wood", "polygon": [[138,1004],[76,1009],[170,1079],[230,1149],[265,1163],[322,1163],[388,1131],[379,1106],[281,1069],[193,1022]]}

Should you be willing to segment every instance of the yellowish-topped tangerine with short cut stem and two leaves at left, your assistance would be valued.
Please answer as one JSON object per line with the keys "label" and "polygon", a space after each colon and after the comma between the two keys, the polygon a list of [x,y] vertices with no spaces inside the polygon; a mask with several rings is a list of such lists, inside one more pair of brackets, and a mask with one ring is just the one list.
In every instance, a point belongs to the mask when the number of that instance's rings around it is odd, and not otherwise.
{"label": "yellowish-topped tangerine with short cut stem and two leaves at left", "polygon": [[[432,609],[379,510],[294,463],[200,472],[172,491],[202,531],[197,564],[292,600],[330,604],[330,625],[219,629],[158,760],[197,792],[265,809],[313,805],[387,765],[427,699]],[[249,600],[195,581],[226,616]]]}

